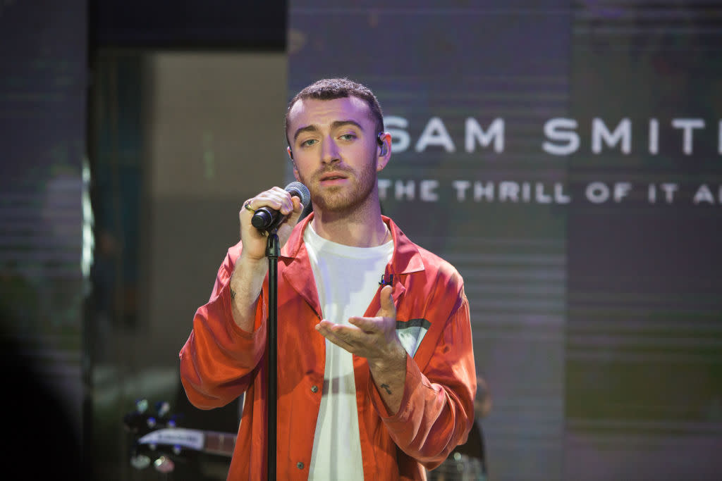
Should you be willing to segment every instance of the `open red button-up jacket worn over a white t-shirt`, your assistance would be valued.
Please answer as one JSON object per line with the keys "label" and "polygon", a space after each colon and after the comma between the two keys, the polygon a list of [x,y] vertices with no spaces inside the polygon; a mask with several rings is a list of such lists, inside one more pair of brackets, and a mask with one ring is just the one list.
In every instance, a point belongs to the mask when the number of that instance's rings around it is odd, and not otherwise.
{"label": "open red button-up jacket worn over a white t-shirt", "polygon": [[[321,405],[325,339],[314,326],[321,319],[300,222],[281,250],[277,303],[277,478],[306,480],[313,433]],[[464,281],[448,262],[411,242],[383,217],[394,252],[397,332],[410,356],[399,412],[389,415],[365,358],[353,357],[365,480],[424,480],[466,441],[474,420],[476,371],[469,302]],[[229,279],[240,243],[218,270],[208,304],[193,318],[181,349],[181,380],[188,400],[201,409],[226,405],[246,393],[229,480],[266,479],[266,318],[268,279],[256,309],[255,330],[233,322]],[[378,293],[365,313],[376,315]],[[420,343],[419,343],[420,341]],[[342,455],[342,454],[339,454]]]}

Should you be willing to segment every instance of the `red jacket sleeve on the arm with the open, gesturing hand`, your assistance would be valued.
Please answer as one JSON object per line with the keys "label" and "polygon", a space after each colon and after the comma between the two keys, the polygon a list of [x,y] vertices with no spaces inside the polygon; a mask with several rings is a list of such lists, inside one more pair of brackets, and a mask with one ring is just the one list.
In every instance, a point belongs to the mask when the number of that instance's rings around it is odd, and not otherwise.
{"label": "red jacket sleeve on the arm with the open, gesturing hand", "polygon": [[474,423],[477,376],[469,301],[463,288],[436,339],[428,361],[419,352],[414,358],[406,356],[404,397],[396,414],[389,415],[372,380],[368,386],[396,446],[427,469],[437,467],[456,446],[464,444]]}

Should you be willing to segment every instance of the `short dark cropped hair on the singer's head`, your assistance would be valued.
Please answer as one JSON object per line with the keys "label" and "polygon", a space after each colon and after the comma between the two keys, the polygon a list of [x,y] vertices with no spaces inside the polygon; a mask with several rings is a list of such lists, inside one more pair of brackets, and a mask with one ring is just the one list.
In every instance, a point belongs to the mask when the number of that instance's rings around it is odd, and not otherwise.
{"label": "short dark cropped hair on the singer's head", "polygon": [[383,113],[378,99],[371,92],[371,89],[346,78],[321,79],[305,87],[288,102],[288,108],[286,109],[286,141],[288,141],[288,114],[296,102],[303,99],[334,100],[345,97],[358,97],[364,100],[371,110],[371,117],[375,120],[375,133],[383,132]]}

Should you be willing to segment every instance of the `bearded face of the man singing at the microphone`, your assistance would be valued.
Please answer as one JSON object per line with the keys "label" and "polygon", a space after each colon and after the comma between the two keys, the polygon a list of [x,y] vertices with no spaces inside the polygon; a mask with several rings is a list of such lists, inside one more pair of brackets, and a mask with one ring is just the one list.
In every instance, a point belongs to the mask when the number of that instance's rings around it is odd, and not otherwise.
{"label": "bearded face of the man singing at the microphone", "polygon": [[366,102],[304,99],[293,105],[289,120],[294,174],[308,187],[314,210],[350,213],[378,202],[376,172],[386,159],[378,156]]}

